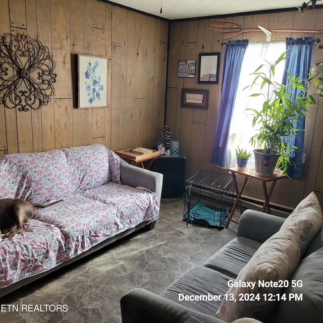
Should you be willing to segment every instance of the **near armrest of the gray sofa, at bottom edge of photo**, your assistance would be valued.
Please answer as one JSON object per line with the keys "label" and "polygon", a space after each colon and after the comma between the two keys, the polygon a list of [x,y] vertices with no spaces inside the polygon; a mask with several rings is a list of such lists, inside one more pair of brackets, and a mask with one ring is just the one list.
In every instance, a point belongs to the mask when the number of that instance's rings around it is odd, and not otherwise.
{"label": "near armrest of the gray sofa, at bottom edge of photo", "polygon": [[182,323],[191,315],[203,323],[225,323],[142,288],[130,290],[120,304],[122,323]]}

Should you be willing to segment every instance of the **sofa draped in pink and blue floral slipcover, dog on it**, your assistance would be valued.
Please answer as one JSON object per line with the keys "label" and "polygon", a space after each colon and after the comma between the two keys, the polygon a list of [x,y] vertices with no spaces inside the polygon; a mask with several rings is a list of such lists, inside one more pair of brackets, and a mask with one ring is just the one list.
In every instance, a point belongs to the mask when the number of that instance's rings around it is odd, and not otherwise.
{"label": "sofa draped in pink and blue floral slipcover, dog on it", "polygon": [[0,199],[57,204],[36,208],[26,230],[0,239],[0,296],[158,218],[163,175],[89,146],[0,158]]}

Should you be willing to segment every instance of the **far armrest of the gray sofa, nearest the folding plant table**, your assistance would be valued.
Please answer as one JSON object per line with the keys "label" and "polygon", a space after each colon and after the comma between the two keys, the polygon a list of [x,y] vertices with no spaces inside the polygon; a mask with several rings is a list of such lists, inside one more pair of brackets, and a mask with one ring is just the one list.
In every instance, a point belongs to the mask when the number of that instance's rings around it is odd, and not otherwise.
{"label": "far armrest of the gray sofa, nearest the folding plant table", "polygon": [[279,231],[284,221],[285,218],[247,209],[240,217],[237,236],[263,243]]}

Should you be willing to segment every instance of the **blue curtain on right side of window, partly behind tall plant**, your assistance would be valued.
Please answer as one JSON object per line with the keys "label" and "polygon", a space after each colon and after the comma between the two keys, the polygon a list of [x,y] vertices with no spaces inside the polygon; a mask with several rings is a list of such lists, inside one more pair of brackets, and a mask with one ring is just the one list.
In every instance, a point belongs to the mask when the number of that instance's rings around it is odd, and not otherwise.
{"label": "blue curtain on right side of window, partly behind tall plant", "polygon": [[[310,61],[312,54],[312,44],[313,37],[305,38],[286,38],[286,61],[285,70],[287,70],[291,76],[300,76],[301,79],[308,78]],[[288,82],[287,73],[284,73],[283,84]],[[297,95],[296,93],[295,95]],[[305,120],[304,118],[299,118],[298,122],[295,122],[294,127],[298,127],[298,136],[291,140],[291,144],[298,147],[295,150],[295,155],[291,160],[295,163],[296,169],[294,167],[289,167],[287,174],[291,178],[301,179],[302,177],[302,155],[303,155],[303,145],[304,145],[304,130]]]}

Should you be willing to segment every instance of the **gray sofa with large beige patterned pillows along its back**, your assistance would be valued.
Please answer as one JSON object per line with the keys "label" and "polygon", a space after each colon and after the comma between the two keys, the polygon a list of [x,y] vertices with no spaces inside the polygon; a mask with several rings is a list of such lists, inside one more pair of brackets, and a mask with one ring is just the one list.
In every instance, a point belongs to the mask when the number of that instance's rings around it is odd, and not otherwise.
{"label": "gray sofa with large beige patterned pillows along its back", "polygon": [[235,239],[160,295],[139,288],[126,293],[121,299],[122,321],[182,323],[193,316],[204,323],[242,317],[264,323],[319,323],[322,230],[322,211],[314,193],[286,220],[246,210]]}

